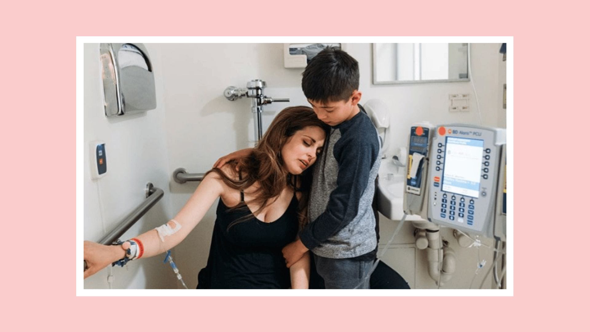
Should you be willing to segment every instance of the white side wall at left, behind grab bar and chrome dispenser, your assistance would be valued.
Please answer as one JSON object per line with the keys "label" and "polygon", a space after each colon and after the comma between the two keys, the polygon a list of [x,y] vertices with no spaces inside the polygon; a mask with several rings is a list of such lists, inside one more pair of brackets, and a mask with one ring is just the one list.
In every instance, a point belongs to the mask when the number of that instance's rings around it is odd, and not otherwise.
{"label": "white side wall at left, behind grab bar and chrome dispenser", "polygon": [[[145,200],[146,183],[164,190],[164,197],[129,229],[126,240],[153,229],[170,218],[168,153],[159,56],[148,52],[156,73],[158,108],[120,118],[104,116],[99,44],[84,44],[84,240],[97,241]],[[107,173],[90,179],[89,142],[106,143]],[[176,288],[171,268],[158,259],[106,268],[84,280],[84,288]],[[149,276],[149,278],[147,277]]]}

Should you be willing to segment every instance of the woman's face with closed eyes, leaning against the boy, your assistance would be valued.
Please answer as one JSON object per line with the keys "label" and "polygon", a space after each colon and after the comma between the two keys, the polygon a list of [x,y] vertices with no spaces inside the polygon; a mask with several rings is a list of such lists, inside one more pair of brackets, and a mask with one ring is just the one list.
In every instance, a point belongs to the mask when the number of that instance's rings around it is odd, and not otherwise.
{"label": "woman's face with closed eyes, leaning against the boy", "polygon": [[281,149],[283,164],[291,174],[301,174],[313,165],[322,152],[326,134],[318,126],[307,126],[296,131]]}

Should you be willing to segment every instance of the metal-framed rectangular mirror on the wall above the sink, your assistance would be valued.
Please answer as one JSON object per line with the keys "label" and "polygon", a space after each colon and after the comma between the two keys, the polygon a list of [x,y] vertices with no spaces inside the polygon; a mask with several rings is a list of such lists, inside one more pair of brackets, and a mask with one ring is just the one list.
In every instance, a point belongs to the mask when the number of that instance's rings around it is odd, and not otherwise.
{"label": "metal-framed rectangular mirror on the wall above the sink", "polygon": [[375,43],[373,84],[467,82],[468,43]]}

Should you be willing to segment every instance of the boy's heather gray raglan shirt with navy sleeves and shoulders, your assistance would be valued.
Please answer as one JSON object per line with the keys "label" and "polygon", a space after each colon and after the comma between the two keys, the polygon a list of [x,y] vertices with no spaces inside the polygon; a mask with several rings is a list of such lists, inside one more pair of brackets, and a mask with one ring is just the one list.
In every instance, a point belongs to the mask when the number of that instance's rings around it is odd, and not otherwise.
{"label": "boy's heather gray raglan shirt with navy sleeves and shoulders", "polygon": [[371,203],[381,164],[379,138],[359,108],[352,119],[332,127],[313,170],[310,223],[299,236],[326,258],[355,258],[377,246]]}

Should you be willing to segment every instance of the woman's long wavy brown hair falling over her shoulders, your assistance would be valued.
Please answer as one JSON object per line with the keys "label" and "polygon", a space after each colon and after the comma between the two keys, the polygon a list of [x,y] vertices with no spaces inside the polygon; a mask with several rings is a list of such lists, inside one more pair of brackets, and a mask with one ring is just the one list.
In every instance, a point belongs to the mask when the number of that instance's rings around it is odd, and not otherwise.
{"label": "woman's long wavy brown hair falling over her shoulders", "polygon": [[330,127],[317,118],[312,108],[307,106],[293,106],[283,109],[274,118],[266,134],[258,142],[252,153],[246,158],[235,161],[237,162],[237,167],[232,167],[231,169],[232,171],[234,168],[240,170],[241,180],[233,180],[219,168],[213,168],[207,172],[207,174],[209,172],[216,172],[228,187],[240,191],[245,190],[254,183],[260,185],[253,193],[255,198],[247,202],[241,202],[237,206],[232,207],[232,209],[246,209],[246,203],[254,203],[260,207],[256,211],[252,211],[248,216],[232,222],[228,226],[228,229],[234,226],[234,224],[254,218],[255,214],[262,211],[268,204],[277,200],[286,185],[290,185],[295,191],[301,191],[303,194],[297,210],[300,226],[302,227],[307,223],[306,210],[307,201],[309,200],[308,193],[312,183],[311,168],[313,165],[300,175],[291,175],[284,167],[283,160],[280,156],[280,151],[287,140],[295,132],[307,126],[319,126],[326,132],[326,137],[329,133]]}

